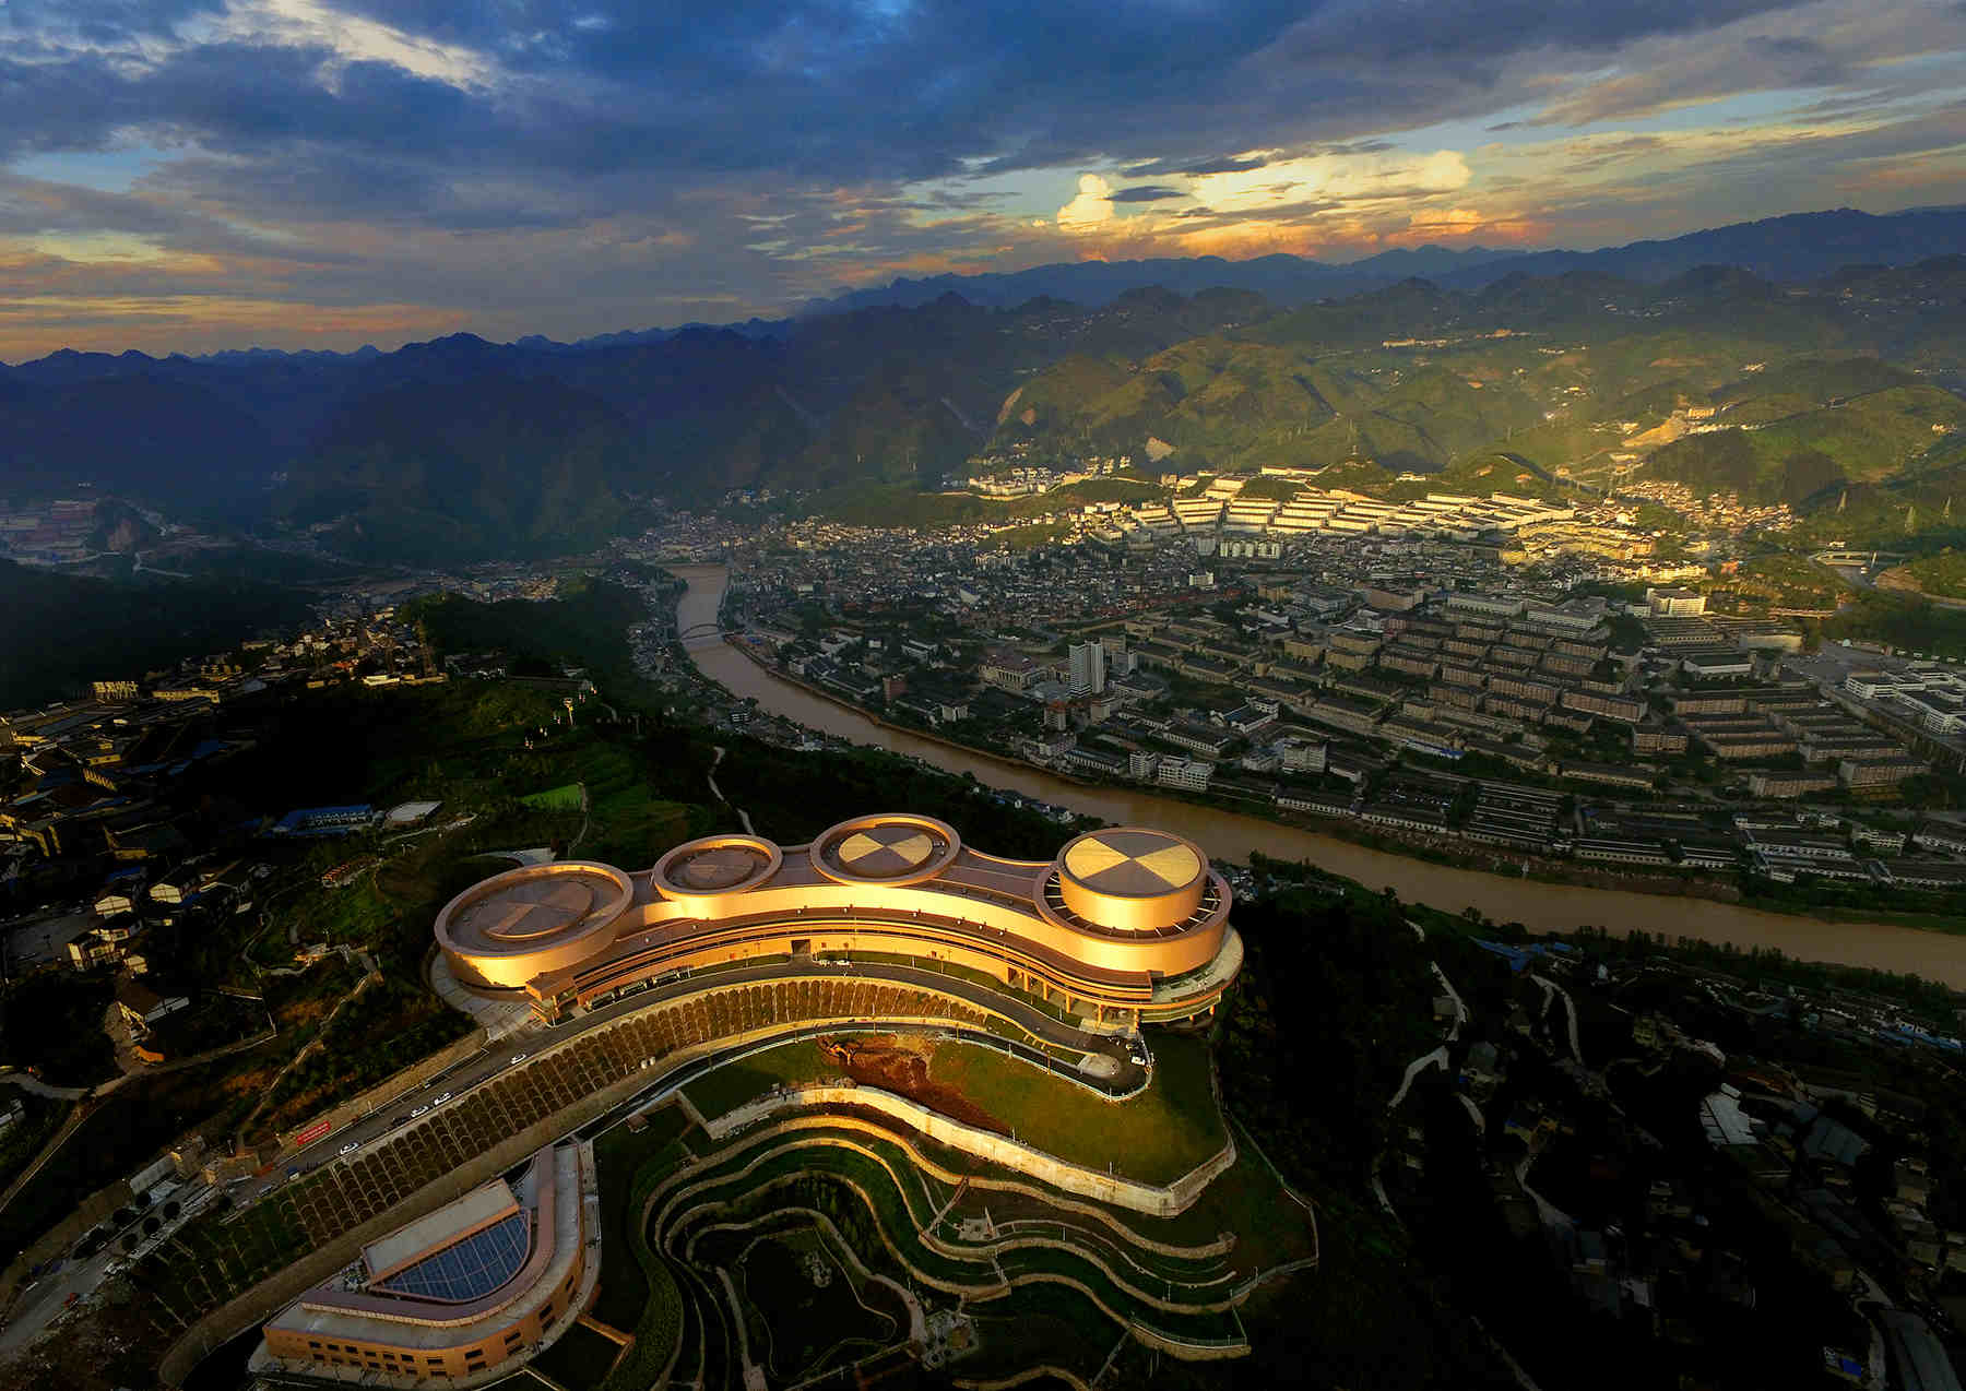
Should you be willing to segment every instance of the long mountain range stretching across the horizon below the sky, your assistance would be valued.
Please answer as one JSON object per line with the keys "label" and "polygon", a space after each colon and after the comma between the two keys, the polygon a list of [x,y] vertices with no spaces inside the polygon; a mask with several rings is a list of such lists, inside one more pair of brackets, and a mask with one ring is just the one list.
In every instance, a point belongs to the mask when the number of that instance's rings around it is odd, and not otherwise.
{"label": "long mountain range stretching across the horizon below the sky", "polygon": [[[94,483],[419,564],[582,548],[651,495],[938,485],[977,458],[1172,448],[1170,468],[1366,483],[1508,458],[1583,481],[1712,407],[1754,428],[1663,440],[1661,475],[1850,505],[1844,485],[1862,503],[1950,458],[1962,330],[1960,210],[1589,253],[1087,261],[580,344],[65,350],[0,367],[0,497]],[[1897,377],[1874,379],[1879,360]]]}

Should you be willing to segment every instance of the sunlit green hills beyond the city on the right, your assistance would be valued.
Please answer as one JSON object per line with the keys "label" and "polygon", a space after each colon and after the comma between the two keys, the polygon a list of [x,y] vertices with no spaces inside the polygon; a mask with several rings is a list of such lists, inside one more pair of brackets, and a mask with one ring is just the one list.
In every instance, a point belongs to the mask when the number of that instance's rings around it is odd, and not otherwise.
{"label": "sunlit green hills beyond the city on the right", "polygon": [[1494,485],[1600,485],[1638,458],[1640,477],[1813,507],[1929,468],[1966,424],[1950,391],[1838,352],[1852,334],[1838,301],[1718,269],[1655,289],[1520,277],[1474,297],[1408,281],[1136,360],[1062,362],[1005,403],[989,448],[1160,440],[1168,468],[1343,464],[1374,489],[1463,479],[1473,460],[1476,479],[1512,475]]}

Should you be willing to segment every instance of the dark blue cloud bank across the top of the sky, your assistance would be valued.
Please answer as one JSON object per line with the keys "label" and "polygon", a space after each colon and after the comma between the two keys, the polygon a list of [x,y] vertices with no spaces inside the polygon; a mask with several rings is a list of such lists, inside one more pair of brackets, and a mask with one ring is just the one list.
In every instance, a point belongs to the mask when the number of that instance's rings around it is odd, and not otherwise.
{"label": "dark blue cloud bank across the top of the sky", "polygon": [[[1211,173],[1239,165],[1223,151],[1315,138],[1333,124],[1341,130],[1329,134],[1349,138],[1368,134],[1357,130],[1368,122],[1449,114],[1518,49],[1604,47],[1762,8],[1412,0],[1305,14],[1296,0],[1246,0],[1144,4],[1117,18],[1105,0],[1052,0],[1034,22],[1009,0],[356,0],[342,10],[484,55],[497,81],[460,90],[356,61],[330,88],[318,69],[334,53],[263,35],[163,61],[79,49],[71,63],[0,69],[0,139],[92,147],[138,124],[238,153],[309,139],[399,159],[484,155],[517,169],[771,169],[847,183],[1128,155],[1136,177]],[[201,10],[35,0],[12,24],[43,45],[83,29],[98,45],[118,35],[136,45],[169,31],[165,18]]]}

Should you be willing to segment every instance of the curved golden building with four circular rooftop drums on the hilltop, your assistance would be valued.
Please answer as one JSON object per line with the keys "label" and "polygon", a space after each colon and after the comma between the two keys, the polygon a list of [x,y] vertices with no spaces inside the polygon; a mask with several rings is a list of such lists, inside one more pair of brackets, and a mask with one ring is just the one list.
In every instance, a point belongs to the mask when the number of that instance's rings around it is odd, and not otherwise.
{"label": "curved golden building with four circular rooftop drums on the hilltop", "polygon": [[495,874],[436,916],[452,974],[545,1020],[733,963],[954,965],[1099,1022],[1207,1014],[1243,965],[1231,894],[1191,843],[1123,827],[1005,861],[902,811],[810,845],[712,835],[653,868],[568,861]]}

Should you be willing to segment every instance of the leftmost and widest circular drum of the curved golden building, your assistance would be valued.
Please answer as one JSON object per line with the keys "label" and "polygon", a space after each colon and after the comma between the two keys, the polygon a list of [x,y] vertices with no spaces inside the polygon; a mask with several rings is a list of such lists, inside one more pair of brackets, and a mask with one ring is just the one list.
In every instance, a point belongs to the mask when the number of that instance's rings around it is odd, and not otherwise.
{"label": "leftmost and widest circular drum of the curved golden building", "polygon": [[517,988],[602,951],[633,898],[611,864],[525,864],[444,904],[436,941],[474,984]]}

